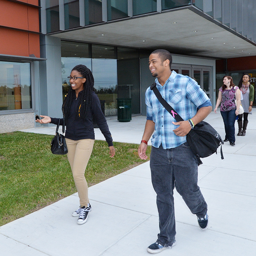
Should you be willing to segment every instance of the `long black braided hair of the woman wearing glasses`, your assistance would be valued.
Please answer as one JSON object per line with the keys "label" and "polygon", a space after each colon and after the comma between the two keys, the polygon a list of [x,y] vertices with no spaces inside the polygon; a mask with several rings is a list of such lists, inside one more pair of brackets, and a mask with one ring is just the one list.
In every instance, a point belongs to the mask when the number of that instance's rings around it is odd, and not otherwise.
{"label": "long black braided hair of the woman wearing glasses", "polygon": [[[83,91],[81,92],[81,97],[79,97],[78,108],[76,109],[75,117],[76,119],[82,118],[84,120],[88,116],[89,110],[93,104],[94,78],[90,69],[85,65],[77,65],[72,69],[72,71],[73,70],[79,72],[84,78],[86,78]],[[70,87],[62,105],[64,118],[68,116],[69,109],[74,97],[75,90]]]}

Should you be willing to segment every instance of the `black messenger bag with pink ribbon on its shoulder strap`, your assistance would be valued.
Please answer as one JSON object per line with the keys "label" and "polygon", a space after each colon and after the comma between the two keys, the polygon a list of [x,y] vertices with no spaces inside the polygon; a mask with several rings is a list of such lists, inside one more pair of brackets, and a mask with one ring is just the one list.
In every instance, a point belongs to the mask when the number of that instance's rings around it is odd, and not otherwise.
{"label": "black messenger bag with pink ribbon on its shoulder strap", "polygon": [[[162,95],[157,89],[156,83],[152,84],[150,89],[153,90],[159,102],[170,114],[175,112],[174,118],[177,122],[184,121],[184,119],[165,101],[165,99],[163,99]],[[217,154],[217,148],[220,145],[221,159],[224,159],[222,153],[222,144],[224,144],[224,142],[219,133],[205,121],[201,121],[200,123],[196,124],[195,127],[189,131],[187,134],[187,143],[192,152],[196,155],[198,165],[202,164],[200,158],[208,157],[213,153]]]}

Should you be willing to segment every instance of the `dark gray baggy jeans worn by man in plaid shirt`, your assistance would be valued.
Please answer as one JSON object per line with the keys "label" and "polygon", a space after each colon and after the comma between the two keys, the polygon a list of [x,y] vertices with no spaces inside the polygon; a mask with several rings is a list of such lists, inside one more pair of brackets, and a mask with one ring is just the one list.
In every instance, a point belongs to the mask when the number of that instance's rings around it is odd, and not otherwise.
{"label": "dark gray baggy jeans worn by man in plaid shirt", "polygon": [[198,162],[188,143],[163,149],[153,147],[150,155],[152,184],[157,193],[159,228],[157,242],[170,246],[175,241],[173,189],[182,196],[197,217],[206,215],[207,204],[197,185]]}

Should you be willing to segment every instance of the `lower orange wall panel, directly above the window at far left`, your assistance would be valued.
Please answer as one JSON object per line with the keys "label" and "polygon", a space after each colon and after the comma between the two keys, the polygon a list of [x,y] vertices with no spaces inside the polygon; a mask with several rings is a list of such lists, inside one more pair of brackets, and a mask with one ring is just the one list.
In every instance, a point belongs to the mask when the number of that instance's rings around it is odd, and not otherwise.
{"label": "lower orange wall panel, directly above the window at far left", "polygon": [[[0,28],[0,54],[29,56],[29,33]],[[3,37],[4,35],[4,37]]]}

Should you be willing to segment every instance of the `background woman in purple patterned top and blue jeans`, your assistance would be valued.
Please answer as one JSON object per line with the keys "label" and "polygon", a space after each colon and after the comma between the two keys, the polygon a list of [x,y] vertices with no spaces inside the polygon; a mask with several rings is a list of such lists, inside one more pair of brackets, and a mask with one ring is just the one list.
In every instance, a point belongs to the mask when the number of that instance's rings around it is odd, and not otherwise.
{"label": "background woman in purple patterned top and blue jeans", "polygon": [[[217,113],[217,108],[221,103],[221,116],[225,127],[225,142],[229,141],[231,146],[235,146],[235,121],[240,108],[241,94],[237,86],[234,85],[231,76],[223,77],[223,86],[219,89],[218,99],[214,112]],[[235,101],[237,100],[237,106]]]}

